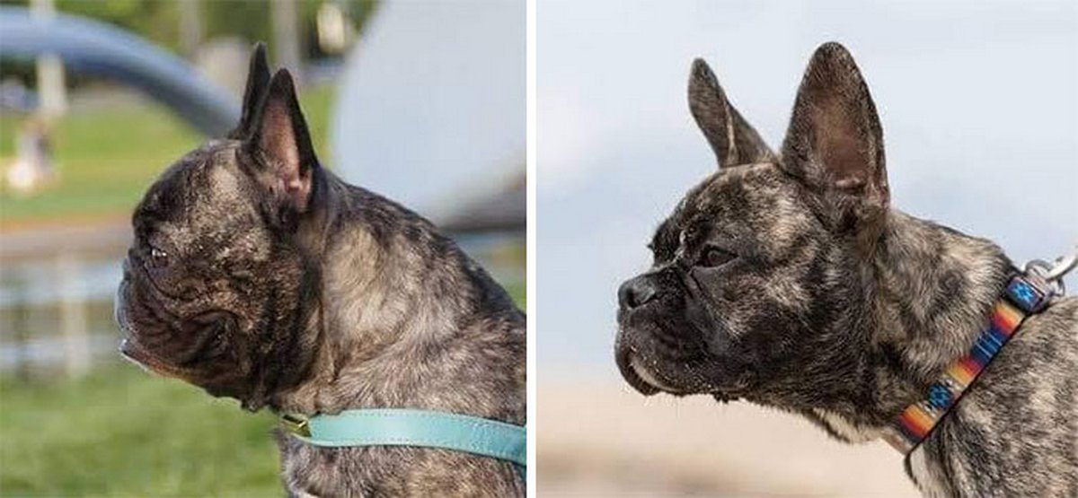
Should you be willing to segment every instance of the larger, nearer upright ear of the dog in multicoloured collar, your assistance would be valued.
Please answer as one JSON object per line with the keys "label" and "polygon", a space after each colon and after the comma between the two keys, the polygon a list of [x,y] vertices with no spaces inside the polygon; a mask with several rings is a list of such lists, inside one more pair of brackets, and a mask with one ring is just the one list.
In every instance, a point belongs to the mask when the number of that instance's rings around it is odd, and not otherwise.
{"label": "larger, nearer upright ear of the dog in multicoloured collar", "polygon": [[813,188],[838,193],[853,208],[855,222],[886,213],[890,194],[880,117],[853,56],[838,43],[825,43],[808,63],[782,167]]}

